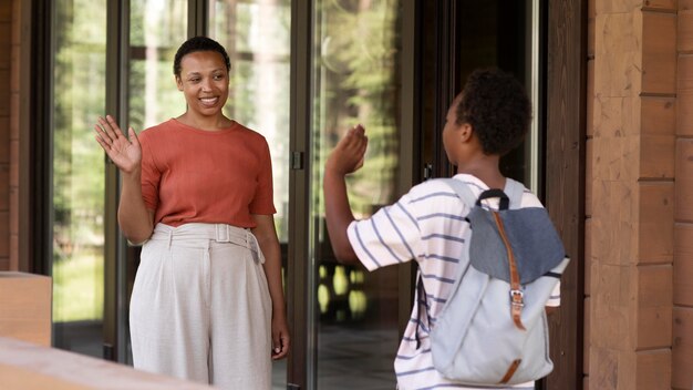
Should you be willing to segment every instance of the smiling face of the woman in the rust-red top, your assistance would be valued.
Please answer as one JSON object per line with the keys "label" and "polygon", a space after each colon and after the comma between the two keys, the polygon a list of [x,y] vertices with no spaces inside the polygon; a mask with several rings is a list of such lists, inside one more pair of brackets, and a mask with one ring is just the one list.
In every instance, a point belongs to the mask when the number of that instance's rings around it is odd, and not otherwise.
{"label": "smiling face of the woman in the rust-red top", "polygon": [[180,75],[176,76],[178,90],[188,103],[188,112],[203,116],[221,113],[228,99],[228,71],[226,62],[216,51],[196,51],[180,59]]}

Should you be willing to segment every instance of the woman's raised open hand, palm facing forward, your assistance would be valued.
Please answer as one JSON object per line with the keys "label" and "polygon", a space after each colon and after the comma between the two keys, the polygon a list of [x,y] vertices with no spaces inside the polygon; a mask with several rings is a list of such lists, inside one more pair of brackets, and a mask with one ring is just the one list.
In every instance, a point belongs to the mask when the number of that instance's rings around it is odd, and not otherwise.
{"label": "woman's raised open hand, palm facing forward", "polygon": [[139,140],[137,140],[137,134],[133,127],[127,129],[128,136],[126,137],[113,116],[106,115],[106,119],[99,116],[99,123],[94,125],[94,131],[101,147],[123,173],[133,173],[139,170],[142,146],[139,146]]}

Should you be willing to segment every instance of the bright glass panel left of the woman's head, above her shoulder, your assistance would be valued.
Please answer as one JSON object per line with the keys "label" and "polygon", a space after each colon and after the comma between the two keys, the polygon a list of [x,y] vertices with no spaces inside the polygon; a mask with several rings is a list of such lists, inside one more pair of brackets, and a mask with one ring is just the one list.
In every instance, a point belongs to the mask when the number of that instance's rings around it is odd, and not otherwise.
{"label": "bright glass panel left of the woman's head, above her shoulder", "polygon": [[187,39],[187,0],[131,1],[127,114],[137,132],[185,112],[173,61]]}

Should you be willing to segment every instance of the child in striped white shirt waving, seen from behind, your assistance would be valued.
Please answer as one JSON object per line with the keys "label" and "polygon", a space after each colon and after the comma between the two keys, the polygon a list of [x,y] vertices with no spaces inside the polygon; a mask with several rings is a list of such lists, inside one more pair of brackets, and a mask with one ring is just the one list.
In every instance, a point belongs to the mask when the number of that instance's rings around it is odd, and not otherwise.
{"label": "child in striped white shirt waving, seen from behind", "polygon": [[[453,101],[443,130],[447,158],[457,167],[457,174],[452,179],[462,183],[463,187],[466,187],[466,191],[470,192],[475,198],[489,188],[508,188],[511,181],[500,173],[499,160],[523,142],[530,120],[530,102],[517,80],[497,69],[473,72],[462,93]],[[466,275],[467,269],[472,268],[469,259],[461,254],[468,250],[470,244],[470,232],[474,229],[470,230],[467,216],[474,207],[463,199],[464,196],[458,195],[458,191],[445,182],[451,181],[449,178],[432,179],[412,187],[395,204],[381,208],[370,218],[354,220],[349,206],[344,176],[363,165],[366,145],[365,131],[361,125],[356,125],[339,142],[328,158],[323,182],[325,218],[334,255],[343,263],[360,260],[369,270],[374,270],[412,259],[417,261],[420,283],[415,304],[394,362],[397,388],[401,390],[534,389],[534,380],[540,377],[532,377],[531,380],[525,382],[511,379],[517,366],[523,368],[523,365],[527,363],[520,363],[520,359],[516,361],[517,365],[514,368],[507,371],[505,376],[507,378],[500,376],[497,380],[488,380],[488,382],[485,379],[458,380],[455,379],[457,377],[441,372],[439,356],[443,352],[432,342],[431,331],[436,329],[436,321],[442,320],[441,316],[445,311],[443,309],[447,300],[452,299],[454,291],[463,288],[459,287],[461,275]],[[515,196],[516,199],[510,198],[510,208],[534,207],[544,212],[539,199],[524,186],[520,185],[520,187],[518,195]],[[478,208],[495,212],[501,206],[498,197],[488,197],[479,198],[477,205]],[[544,218],[546,219],[545,216]],[[530,226],[534,227],[534,225]],[[551,238],[556,240],[557,236],[554,235]],[[477,239],[476,245],[484,245],[484,243],[479,244]],[[554,250],[555,253],[562,250],[559,242],[558,247]],[[511,253],[511,247],[508,246],[507,252]],[[563,253],[560,254],[559,260],[563,260]],[[526,263],[521,263],[523,254],[518,254],[517,257],[520,261],[520,271],[524,273],[527,266]],[[534,317],[529,318],[526,315],[530,310],[521,311],[525,306],[521,301],[521,291],[526,286],[514,287],[514,292],[504,296],[507,300],[510,300],[510,296],[513,299],[519,299],[519,301],[507,304],[508,307],[513,307],[514,316],[517,309],[517,316],[515,316],[517,328],[524,329],[526,326],[534,329],[537,321],[542,321],[545,339],[544,305],[547,307],[559,305],[558,277],[567,259],[556,268],[554,268],[556,260],[551,261],[548,268],[545,267],[546,269],[535,269],[535,274],[541,274],[542,280],[547,279],[544,276],[549,276],[548,279],[555,277],[554,280],[542,281],[550,287],[549,292],[540,298],[540,316],[535,312]],[[510,274],[515,275],[513,268],[517,268],[516,265],[510,263],[509,268]],[[506,274],[508,274],[507,269]],[[493,277],[488,278],[493,279]],[[519,279],[517,281],[519,283]],[[526,280],[523,279],[523,283]],[[486,294],[490,292],[486,291]],[[528,306],[529,309],[536,311],[536,308],[530,306]],[[451,310],[453,309],[447,311]],[[510,317],[508,312],[508,318]],[[510,320],[509,324],[513,321]],[[486,346],[496,348],[487,343],[492,339],[495,337],[480,340],[480,342],[474,340],[475,356],[463,358],[473,362],[483,361],[487,355]],[[438,362],[434,363],[436,348],[438,348]],[[500,348],[504,348],[503,343]],[[548,359],[548,346],[545,349],[546,361],[542,362],[541,376],[548,373],[547,367],[548,371],[552,368]]]}

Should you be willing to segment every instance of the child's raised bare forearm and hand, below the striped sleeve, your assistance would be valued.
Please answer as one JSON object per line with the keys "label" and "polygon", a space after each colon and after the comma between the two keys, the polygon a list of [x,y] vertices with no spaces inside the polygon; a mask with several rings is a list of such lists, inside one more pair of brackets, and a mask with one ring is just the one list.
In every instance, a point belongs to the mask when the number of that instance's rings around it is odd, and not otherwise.
{"label": "child's raised bare forearm and hand, below the striped sleeve", "polygon": [[349,206],[344,176],[363,165],[368,146],[363,126],[356,125],[337,144],[324,166],[323,192],[328,233],[334,256],[341,263],[358,263],[346,228],[354,220]]}

